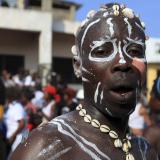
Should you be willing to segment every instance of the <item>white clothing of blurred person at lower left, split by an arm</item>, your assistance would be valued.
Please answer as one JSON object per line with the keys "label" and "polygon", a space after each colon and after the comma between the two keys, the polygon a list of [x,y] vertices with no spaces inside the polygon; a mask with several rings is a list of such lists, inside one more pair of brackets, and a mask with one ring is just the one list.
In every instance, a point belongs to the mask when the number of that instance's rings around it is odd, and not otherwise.
{"label": "white clothing of blurred person at lower left, split by an arm", "polygon": [[[9,104],[8,110],[4,114],[4,122],[7,126],[7,138],[9,139],[14,132],[18,128],[18,121],[24,119],[27,120],[26,112],[23,108],[23,106],[14,101]],[[26,128],[24,128],[20,133],[17,134],[15,141],[12,144],[12,151],[18,146],[18,144],[21,142],[22,135],[26,131]]]}

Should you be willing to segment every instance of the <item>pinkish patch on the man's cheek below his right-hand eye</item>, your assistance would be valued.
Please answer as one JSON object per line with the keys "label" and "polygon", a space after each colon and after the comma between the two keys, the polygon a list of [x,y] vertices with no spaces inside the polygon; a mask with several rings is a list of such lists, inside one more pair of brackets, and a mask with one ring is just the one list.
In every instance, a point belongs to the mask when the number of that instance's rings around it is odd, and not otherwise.
{"label": "pinkish patch on the man's cheek below his right-hand eye", "polygon": [[132,65],[140,72],[141,83],[144,84],[146,78],[146,63],[139,58],[133,58]]}

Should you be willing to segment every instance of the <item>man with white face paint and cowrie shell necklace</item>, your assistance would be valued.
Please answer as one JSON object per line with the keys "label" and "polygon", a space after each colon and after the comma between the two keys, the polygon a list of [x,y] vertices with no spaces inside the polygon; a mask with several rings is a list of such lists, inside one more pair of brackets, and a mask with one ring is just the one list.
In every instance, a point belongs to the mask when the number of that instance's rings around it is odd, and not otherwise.
{"label": "man with white face paint and cowrie shell necklace", "polygon": [[144,139],[126,133],[145,82],[145,33],[139,18],[115,3],[89,12],[72,52],[84,103],[34,130],[10,159],[157,160]]}

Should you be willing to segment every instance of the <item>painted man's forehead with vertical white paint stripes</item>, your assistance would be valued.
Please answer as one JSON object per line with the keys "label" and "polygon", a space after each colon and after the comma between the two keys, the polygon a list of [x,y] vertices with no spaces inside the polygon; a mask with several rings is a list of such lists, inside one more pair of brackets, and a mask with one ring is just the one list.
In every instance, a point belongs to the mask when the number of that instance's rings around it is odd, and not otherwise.
{"label": "painted man's forehead with vertical white paint stripes", "polygon": [[[99,20],[99,21],[98,21]],[[93,39],[141,39],[145,41],[143,29],[136,21],[126,17],[108,17],[94,20],[90,28],[86,29],[85,38]],[[85,34],[85,33],[84,33]]]}

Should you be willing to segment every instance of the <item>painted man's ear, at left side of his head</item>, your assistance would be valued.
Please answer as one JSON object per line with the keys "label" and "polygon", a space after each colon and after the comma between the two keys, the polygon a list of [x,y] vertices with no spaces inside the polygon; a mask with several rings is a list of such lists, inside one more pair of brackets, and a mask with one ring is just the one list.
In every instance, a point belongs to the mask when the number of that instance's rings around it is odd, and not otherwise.
{"label": "painted man's ear, at left side of his head", "polygon": [[74,69],[74,74],[76,75],[77,78],[82,77],[82,64],[81,64],[81,59],[76,56],[73,57],[73,69]]}

